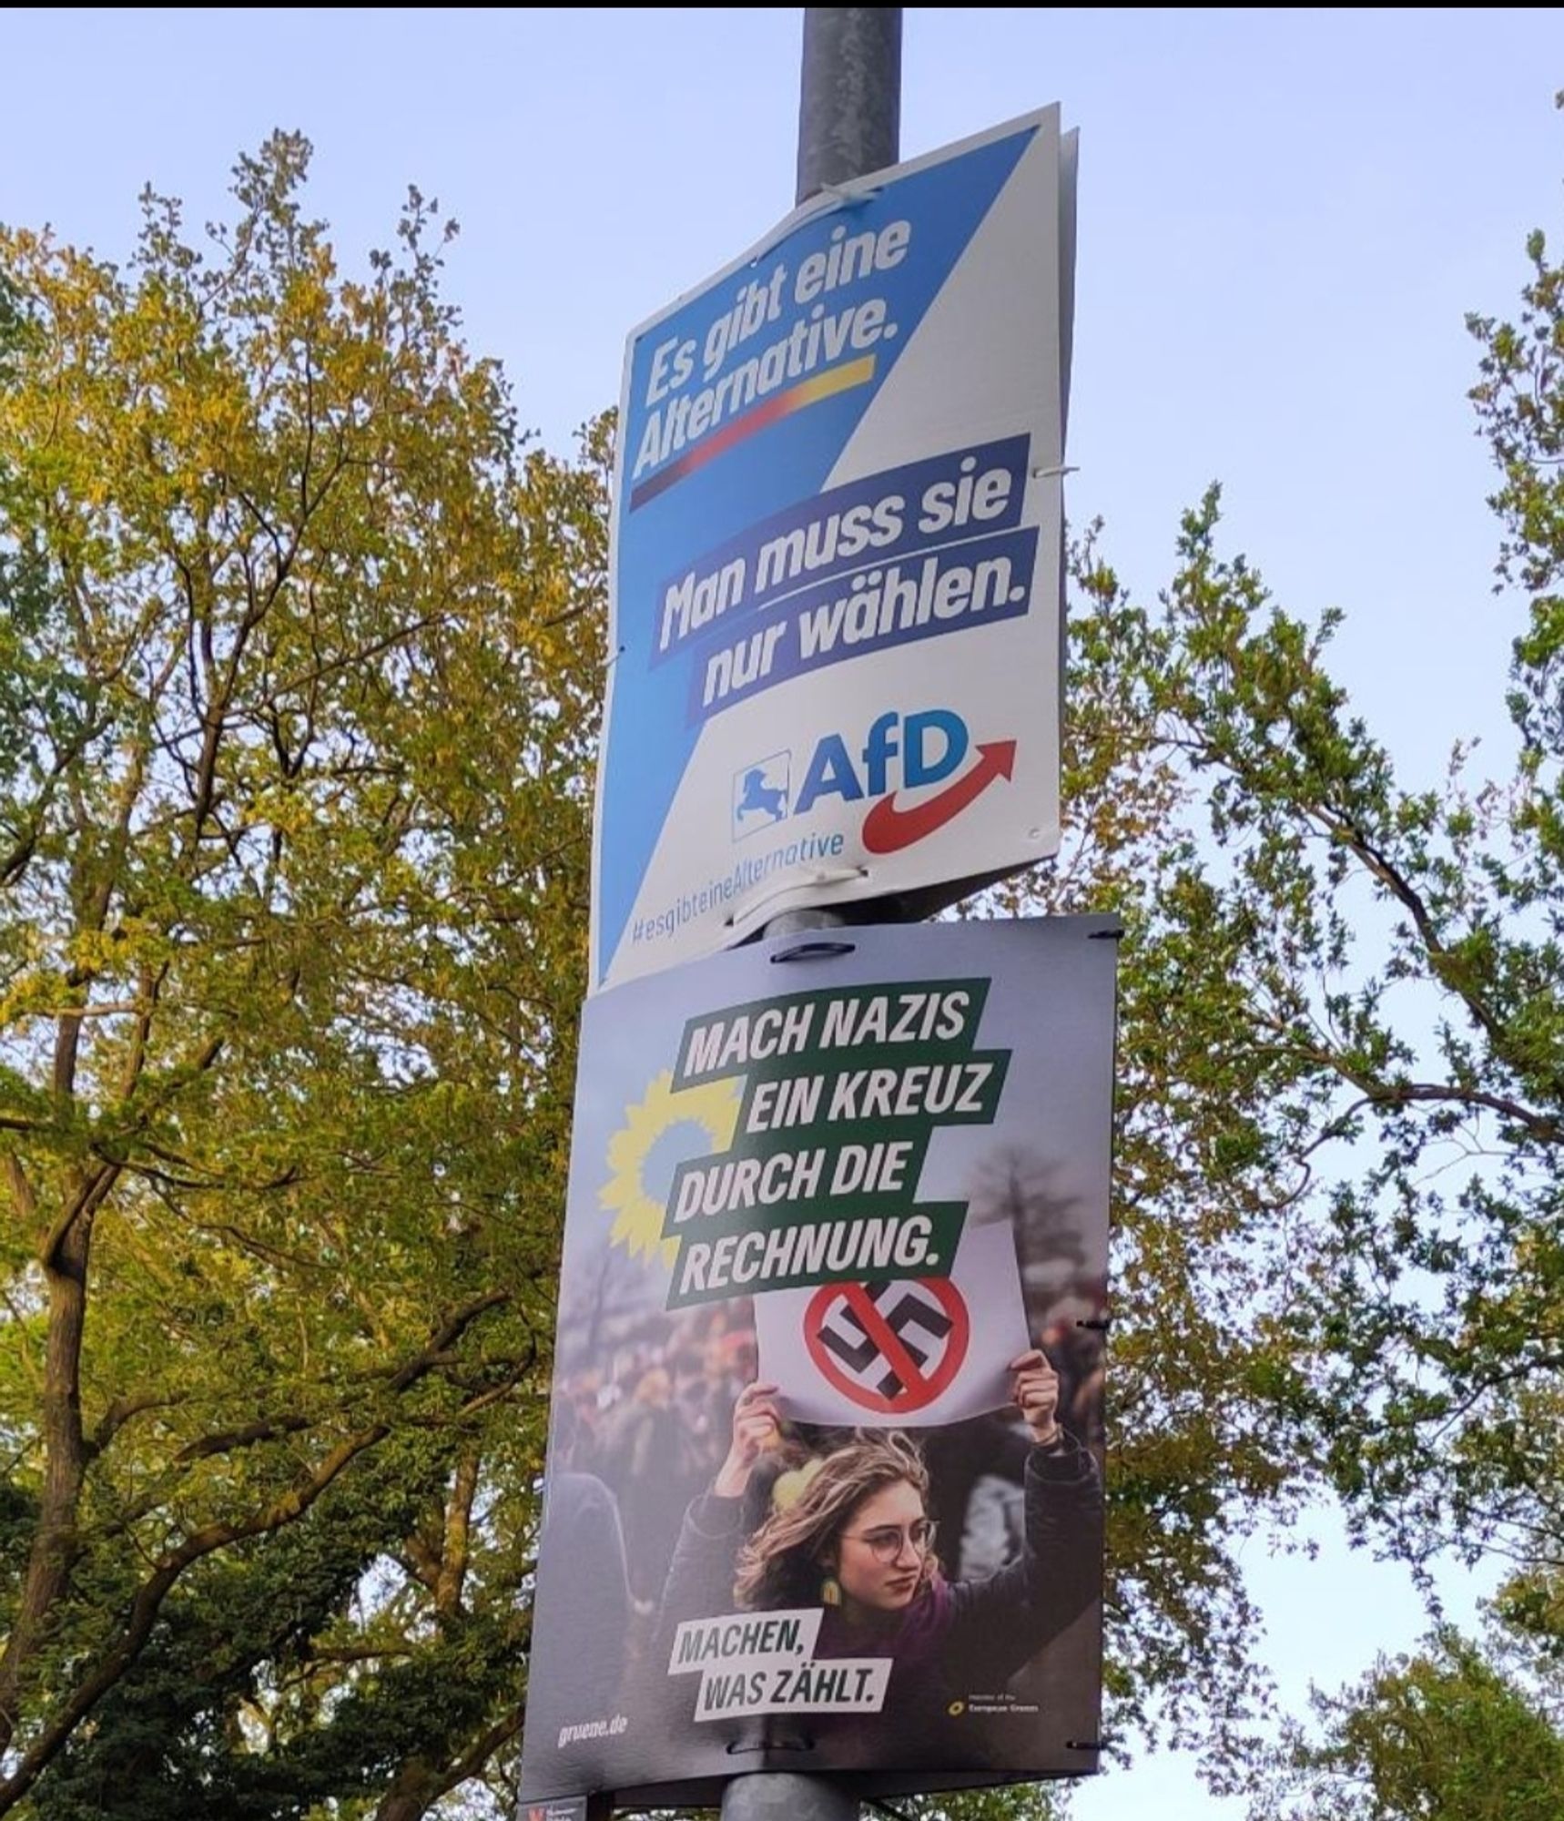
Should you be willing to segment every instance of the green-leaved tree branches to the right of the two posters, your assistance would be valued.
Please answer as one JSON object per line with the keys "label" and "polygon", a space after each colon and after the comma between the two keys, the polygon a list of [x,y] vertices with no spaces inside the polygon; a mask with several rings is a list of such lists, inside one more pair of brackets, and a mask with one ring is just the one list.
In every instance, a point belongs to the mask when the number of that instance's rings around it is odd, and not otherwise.
{"label": "green-leaved tree branches to the right of the two posters", "polygon": [[[1540,233],[1528,251],[1518,320],[1471,320],[1498,588],[1529,597],[1509,776],[1457,745],[1442,787],[1398,783],[1331,676],[1336,615],[1287,614],[1222,552],[1214,488],[1156,605],[1091,544],[1078,563],[1083,816],[1020,901],[1127,905],[1112,1377],[1136,1402],[1109,1537],[1156,1606],[1127,1491],[1158,1440],[1196,1442],[1220,1466],[1183,1499],[1285,1501],[1320,1475],[1418,1570],[1504,1557],[1504,1613],[1564,1652],[1564,268]],[[1080,796],[1094,756],[1153,805],[1151,841]],[[1202,1377],[1240,1391],[1203,1437],[1176,1409]],[[1202,1550],[1227,1572],[1227,1522],[1196,1526],[1180,1590],[1209,1584]]]}

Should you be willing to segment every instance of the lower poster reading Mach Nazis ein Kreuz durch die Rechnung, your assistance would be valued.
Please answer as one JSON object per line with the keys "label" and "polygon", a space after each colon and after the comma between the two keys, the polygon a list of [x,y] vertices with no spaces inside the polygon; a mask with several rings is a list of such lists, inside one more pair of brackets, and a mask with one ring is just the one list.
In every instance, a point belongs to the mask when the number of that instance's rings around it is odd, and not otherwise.
{"label": "lower poster reading Mach Nazis ein Kreuz durch die Rechnung", "polygon": [[1098,1768],[1112,918],[586,1002],[523,1814]]}

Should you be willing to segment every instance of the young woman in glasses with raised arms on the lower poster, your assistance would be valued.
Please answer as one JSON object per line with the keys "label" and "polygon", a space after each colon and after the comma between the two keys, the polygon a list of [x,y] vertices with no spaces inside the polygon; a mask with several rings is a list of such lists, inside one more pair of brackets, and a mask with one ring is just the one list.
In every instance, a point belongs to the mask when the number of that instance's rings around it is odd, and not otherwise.
{"label": "young woman in glasses with raised arms on the lower poster", "polygon": [[[745,1535],[756,1466],[781,1439],[776,1386],[750,1384],[712,1490],[685,1515],[663,1599],[665,1626],[734,1610],[823,1606],[816,1661],[890,1657],[879,1714],[790,1715],[830,1739],[830,1763],[914,1763],[972,1699],[1005,1683],[1098,1597],[1102,1486],[1058,1422],[1060,1382],[1041,1349],[1011,1362],[1031,1429],[1020,1557],[985,1581],[947,1581],[927,1515],[929,1473],[898,1431],[859,1433],[781,1482]],[[887,1728],[894,1743],[887,1739]],[[976,1743],[983,1728],[969,1724]],[[847,1754],[843,1754],[843,1745]],[[939,1746],[943,1752],[945,1746]]]}

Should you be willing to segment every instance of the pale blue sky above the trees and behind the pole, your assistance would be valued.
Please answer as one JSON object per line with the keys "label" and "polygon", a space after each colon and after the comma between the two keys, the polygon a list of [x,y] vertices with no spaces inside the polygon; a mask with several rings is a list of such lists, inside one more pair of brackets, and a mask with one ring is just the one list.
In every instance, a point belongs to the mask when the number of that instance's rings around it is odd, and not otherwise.
{"label": "pale blue sky above the trees and behind the pole", "polygon": [[[792,206],[799,35],[788,7],[11,7],[0,220],[124,259],[144,184],[208,220],[240,151],[302,129],[344,268],[408,184],[461,220],[468,341],[563,452],[617,399],[626,331]],[[1504,745],[1518,610],[1491,592],[1464,319],[1513,310],[1526,233],[1564,228],[1560,84],[1553,9],[905,18],[903,157],[1054,100],[1080,127],[1071,521],[1154,592],[1222,481],[1227,548],[1293,612],[1344,610],[1336,670],[1409,783],[1457,736]],[[1291,1703],[1420,1628],[1396,1570],[1320,1537],[1313,1564],[1254,1546]],[[1076,1814],[1238,1810],[1163,1754]]]}

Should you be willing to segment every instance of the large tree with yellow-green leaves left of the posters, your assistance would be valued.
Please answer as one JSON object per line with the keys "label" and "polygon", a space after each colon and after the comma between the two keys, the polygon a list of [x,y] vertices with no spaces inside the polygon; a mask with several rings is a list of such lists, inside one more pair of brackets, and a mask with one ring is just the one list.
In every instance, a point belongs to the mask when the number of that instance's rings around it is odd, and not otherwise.
{"label": "large tree with yellow-green leaves left of the posters", "polygon": [[521,1723],[606,444],[306,168],[0,233],[0,1814],[399,1821]]}

